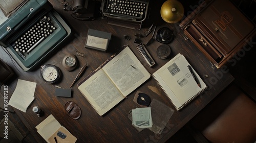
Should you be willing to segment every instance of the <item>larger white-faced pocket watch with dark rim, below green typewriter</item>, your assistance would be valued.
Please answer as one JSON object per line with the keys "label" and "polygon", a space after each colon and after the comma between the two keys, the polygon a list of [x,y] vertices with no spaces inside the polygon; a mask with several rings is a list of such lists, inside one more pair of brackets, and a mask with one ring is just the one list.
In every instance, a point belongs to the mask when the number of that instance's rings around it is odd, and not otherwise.
{"label": "larger white-faced pocket watch with dark rim, below green typewriter", "polygon": [[60,69],[53,64],[41,66],[40,76],[46,83],[55,83],[60,77]]}

